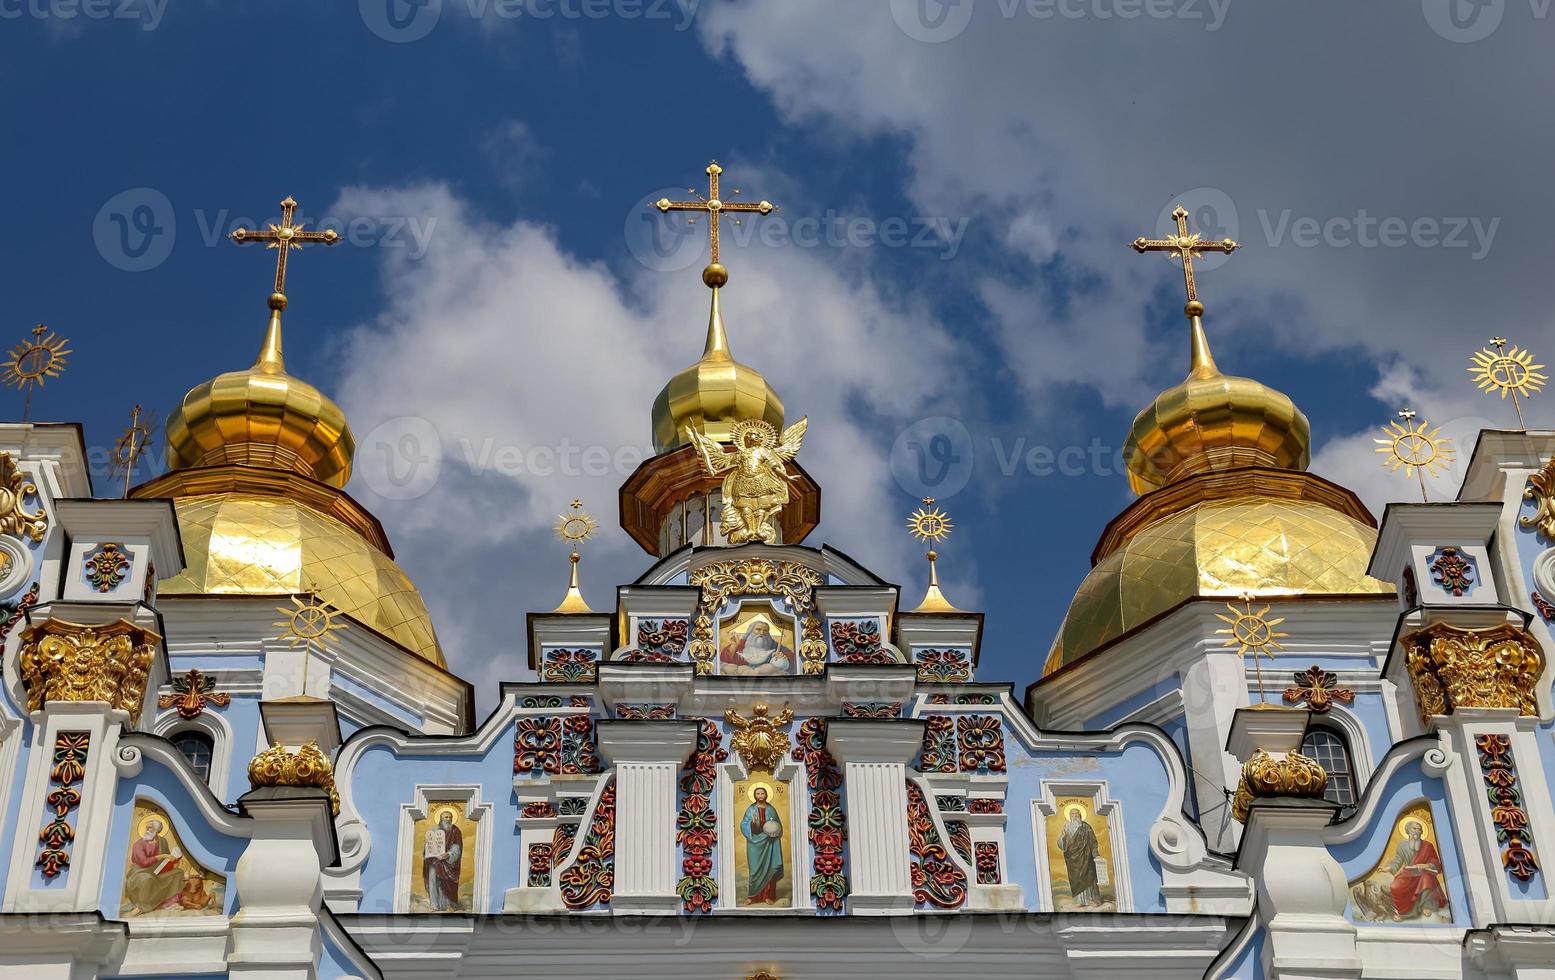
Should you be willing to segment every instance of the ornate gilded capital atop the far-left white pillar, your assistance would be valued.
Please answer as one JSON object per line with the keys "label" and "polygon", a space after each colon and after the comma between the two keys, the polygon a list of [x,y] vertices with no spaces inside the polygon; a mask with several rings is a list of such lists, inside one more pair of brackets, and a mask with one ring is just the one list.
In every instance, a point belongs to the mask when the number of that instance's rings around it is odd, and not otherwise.
{"label": "ornate gilded capital atop the far-left white pillar", "polygon": [[157,633],[120,619],[79,625],[50,619],[22,635],[28,711],[48,702],[107,702],[140,719]]}

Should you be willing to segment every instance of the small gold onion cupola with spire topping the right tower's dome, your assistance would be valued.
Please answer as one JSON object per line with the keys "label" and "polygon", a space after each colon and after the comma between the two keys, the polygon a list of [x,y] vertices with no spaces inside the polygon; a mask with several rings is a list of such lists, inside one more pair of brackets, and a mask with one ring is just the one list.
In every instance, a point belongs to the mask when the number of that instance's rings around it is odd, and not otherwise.
{"label": "small gold onion cupola with spire topping the right tower's dome", "polygon": [[1194,473],[1239,467],[1305,470],[1312,428],[1288,395],[1250,378],[1222,375],[1204,324],[1193,322],[1188,378],[1157,395],[1124,445],[1129,485],[1149,493]]}

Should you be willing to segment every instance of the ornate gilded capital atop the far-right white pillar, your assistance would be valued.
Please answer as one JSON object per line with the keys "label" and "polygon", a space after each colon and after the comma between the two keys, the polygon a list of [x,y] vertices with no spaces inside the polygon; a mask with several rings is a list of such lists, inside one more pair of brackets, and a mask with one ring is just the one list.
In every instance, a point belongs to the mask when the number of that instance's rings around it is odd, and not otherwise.
{"label": "ornate gilded capital atop the far-right white pillar", "polygon": [[1465,630],[1435,624],[1404,638],[1409,677],[1415,684],[1420,717],[1452,714],[1457,708],[1516,708],[1538,714],[1535,686],[1544,672],[1544,653],[1524,628],[1504,624]]}

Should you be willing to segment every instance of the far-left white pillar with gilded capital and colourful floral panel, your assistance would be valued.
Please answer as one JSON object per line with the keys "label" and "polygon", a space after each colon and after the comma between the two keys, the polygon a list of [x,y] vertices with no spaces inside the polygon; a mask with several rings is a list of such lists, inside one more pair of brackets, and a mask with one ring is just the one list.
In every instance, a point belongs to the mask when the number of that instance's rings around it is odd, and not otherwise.
{"label": "far-left white pillar with gilded capital and colourful floral panel", "polygon": [[22,636],[19,674],[36,726],[5,912],[90,912],[103,891],[120,733],[140,719],[162,638],[118,619],[47,618]]}

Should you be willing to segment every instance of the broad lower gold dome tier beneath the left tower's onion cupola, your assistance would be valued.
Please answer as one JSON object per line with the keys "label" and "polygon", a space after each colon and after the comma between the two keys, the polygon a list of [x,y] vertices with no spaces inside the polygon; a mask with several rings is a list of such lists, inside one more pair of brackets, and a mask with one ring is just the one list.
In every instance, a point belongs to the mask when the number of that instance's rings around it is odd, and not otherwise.
{"label": "broad lower gold dome tier beneath the left tower's onion cupola", "polygon": [[393,558],[341,521],[283,496],[210,493],[174,502],[187,568],[163,596],[320,599],[445,667],[426,602]]}

